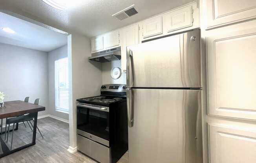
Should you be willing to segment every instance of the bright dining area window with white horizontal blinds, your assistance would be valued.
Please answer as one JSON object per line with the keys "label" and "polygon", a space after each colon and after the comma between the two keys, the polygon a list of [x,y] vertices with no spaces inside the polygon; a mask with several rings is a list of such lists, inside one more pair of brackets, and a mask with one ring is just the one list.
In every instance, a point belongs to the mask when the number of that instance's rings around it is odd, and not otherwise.
{"label": "bright dining area window with white horizontal blinds", "polygon": [[55,61],[55,109],[68,112],[69,102],[68,58]]}

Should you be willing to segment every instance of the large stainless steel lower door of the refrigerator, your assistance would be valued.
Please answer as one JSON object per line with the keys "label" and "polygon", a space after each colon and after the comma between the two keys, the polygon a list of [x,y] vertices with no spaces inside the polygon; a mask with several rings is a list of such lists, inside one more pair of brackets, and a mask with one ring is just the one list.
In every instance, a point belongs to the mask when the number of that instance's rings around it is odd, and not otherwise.
{"label": "large stainless steel lower door of the refrigerator", "polygon": [[200,90],[132,89],[129,163],[202,163]]}

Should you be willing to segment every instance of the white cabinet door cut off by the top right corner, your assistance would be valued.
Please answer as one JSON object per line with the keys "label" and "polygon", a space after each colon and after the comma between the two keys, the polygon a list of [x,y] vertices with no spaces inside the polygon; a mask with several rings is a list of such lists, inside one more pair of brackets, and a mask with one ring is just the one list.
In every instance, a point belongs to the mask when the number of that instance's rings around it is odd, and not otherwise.
{"label": "white cabinet door cut off by the top right corner", "polygon": [[207,28],[256,18],[256,0],[206,0]]}

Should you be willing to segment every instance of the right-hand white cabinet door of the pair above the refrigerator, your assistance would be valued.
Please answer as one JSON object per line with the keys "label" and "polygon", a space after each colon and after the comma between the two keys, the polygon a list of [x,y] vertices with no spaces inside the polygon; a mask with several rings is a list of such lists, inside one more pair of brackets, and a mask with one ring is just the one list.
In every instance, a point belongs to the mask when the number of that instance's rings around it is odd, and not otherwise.
{"label": "right-hand white cabinet door of the pair above the refrigerator", "polygon": [[167,32],[192,26],[192,6],[173,11],[163,16],[163,27]]}

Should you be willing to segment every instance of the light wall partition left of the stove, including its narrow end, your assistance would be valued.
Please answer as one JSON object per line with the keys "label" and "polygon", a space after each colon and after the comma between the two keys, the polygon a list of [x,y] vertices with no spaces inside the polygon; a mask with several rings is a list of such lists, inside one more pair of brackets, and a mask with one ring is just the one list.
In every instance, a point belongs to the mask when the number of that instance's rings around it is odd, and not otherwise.
{"label": "light wall partition left of the stove, including its narrow end", "polygon": [[[70,46],[71,45],[71,46]],[[69,67],[70,103],[69,106],[69,152],[77,147],[77,107],[76,99],[98,95],[102,84],[101,63],[90,62],[90,39],[81,34],[68,36],[68,59],[72,63]],[[70,66],[70,64],[69,64]]]}

